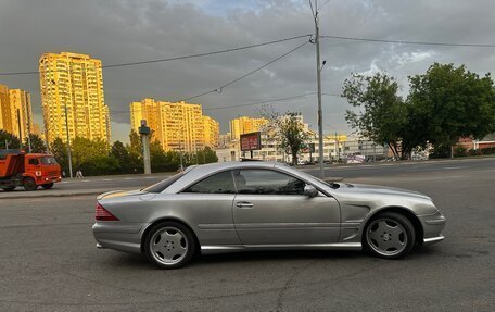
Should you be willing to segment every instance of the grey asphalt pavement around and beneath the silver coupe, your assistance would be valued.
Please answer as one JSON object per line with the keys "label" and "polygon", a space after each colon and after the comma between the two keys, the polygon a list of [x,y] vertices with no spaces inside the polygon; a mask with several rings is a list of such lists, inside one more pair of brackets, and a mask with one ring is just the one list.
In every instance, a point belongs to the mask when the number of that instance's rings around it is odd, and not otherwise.
{"label": "grey asphalt pavement around and beneath the silver coupe", "polygon": [[94,248],[93,196],[0,199],[0,311],[494,311],[494,161],[436,165],[346,177],[426,192],[448,217],[445,241],[401,261],[253,252],[158,271]]}

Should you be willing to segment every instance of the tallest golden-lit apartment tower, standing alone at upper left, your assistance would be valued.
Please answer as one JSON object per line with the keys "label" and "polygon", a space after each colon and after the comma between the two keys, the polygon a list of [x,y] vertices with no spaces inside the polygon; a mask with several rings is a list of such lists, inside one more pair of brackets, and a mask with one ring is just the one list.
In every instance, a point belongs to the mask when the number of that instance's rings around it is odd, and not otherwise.
{"label": "tallest golden-lit apartment tower, standing alone at upper left", "polygon": [[62,52],[39,59],[41,105],[47,141],[84,137],[110,141],[101,60]]}

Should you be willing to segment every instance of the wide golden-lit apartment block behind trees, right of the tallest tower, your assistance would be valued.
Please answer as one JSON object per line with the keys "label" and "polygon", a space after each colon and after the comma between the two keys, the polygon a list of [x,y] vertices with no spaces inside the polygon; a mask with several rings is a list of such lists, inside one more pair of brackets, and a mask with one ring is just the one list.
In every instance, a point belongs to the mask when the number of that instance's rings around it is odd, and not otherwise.
{"label": "wide golden-lit apartment block behind trees, right of the tallest tower", "polygon": [[143,99],[130,103],[130,125],[138,132],[145,120],[153,133],[153,140],[162,143],[165,151],[194,152],[218,145],[219,126],[203,115],[200,104],[164,102]]}

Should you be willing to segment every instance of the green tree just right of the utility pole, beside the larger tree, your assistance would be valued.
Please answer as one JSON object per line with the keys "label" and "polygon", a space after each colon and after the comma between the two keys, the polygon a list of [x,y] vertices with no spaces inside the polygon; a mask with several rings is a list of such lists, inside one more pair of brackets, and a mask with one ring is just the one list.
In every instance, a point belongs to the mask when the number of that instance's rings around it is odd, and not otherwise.
{"label": "green tree just right of the utility pole, beside the larger tree", "polygon": [[[377,145],[386,143],[396,158],[401,141],[403,146],[410,146],[403,141],[408,110],[397,91],[397,82],[382,73],[373,76],[355,74],[345,79],[342,91],[342,97],[358,108],[357,112],[347,110],[345,113],[350,126]],[[406,152],[402,150],[403,157]]]}

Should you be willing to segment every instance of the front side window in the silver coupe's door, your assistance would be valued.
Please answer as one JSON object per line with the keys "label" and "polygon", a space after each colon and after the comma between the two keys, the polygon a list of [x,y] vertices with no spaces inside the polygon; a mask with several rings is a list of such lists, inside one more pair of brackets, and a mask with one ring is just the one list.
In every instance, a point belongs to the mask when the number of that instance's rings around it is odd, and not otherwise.
{"label": "front side window in the silver coupe's door", "polygon": [[305,183],[271,170],[234,171],[239,194],[304,195]]}

